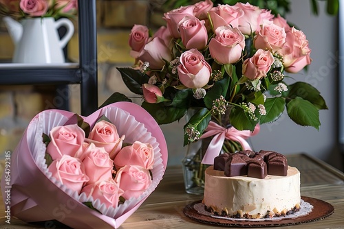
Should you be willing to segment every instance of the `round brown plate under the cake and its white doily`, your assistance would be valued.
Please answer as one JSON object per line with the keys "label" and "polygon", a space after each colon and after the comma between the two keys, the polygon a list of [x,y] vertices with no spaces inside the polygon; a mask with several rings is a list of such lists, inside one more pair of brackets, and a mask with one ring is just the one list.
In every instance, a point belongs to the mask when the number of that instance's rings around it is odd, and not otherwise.
{"label": "round brown plate under the cake and its white doily", "polygon": [[194,221],[198,221],[203,224],[213,224],[218,226],[235,226],[235,227],[274,227],[274,226],[290,226],[296,224],[304,224],[311,221],[316,221],[319,219],[324,219],[332,215],[334,212],[334,206],[329,204],[323,200],[315,199],[312,197],[305,197],[301,196],[301,199],[304,202],[308,202],[313,206],[313,210],[308,213],[308,215],[304,215],[301,217],[296,217],[292,219],[283,219],[283,217],[277,220],[264,220],[264,221],[244,221],[243,219],[235,220],[233,218],[230,219],[219,219],[215,217],[211,217],[208,215],[203,215],[195,210],[195,204],[200,204],[202,200],[198,200],[191,204],[188,204],[184,207],[183,213],[190,219]]}

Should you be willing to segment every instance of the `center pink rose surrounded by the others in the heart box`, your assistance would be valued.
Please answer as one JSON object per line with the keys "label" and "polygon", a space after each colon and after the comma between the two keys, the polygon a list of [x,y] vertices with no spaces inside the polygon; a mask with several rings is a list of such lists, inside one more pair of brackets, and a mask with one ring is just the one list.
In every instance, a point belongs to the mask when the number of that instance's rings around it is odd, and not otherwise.
{"label": "center pink rose surrounded by the others in the heart box", "polygon": [[87,184],[92,184],[97,180],[109,180],[112,178],[114,161],[110,159],[105,149],[96,147],[94,143],[83,152],[80,157],[85,167],[85,174],[89,177]]}

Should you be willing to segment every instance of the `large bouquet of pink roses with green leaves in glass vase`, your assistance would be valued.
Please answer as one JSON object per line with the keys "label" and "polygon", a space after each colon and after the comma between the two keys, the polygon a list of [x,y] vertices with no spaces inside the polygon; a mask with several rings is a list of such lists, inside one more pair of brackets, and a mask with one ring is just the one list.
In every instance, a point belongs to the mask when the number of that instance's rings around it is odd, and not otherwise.
{"label": "large bouquet of pink roses with green leaves in glass vase", "polygon": [[[158,123],[195,110],[184,126],[184,145],[211,131],[254,132],[285,109],[295,123],[319,129],[319,110],[327,109],[319,91],[306,82],[286,82],[286,73],[312,61],[301,30],[270,10],[240,2],[200,1],[166,12],[163,19],[166,26],[155,33],[133,26],[129,45],[135,65],[118,70]],[[237,136],[226,136],[213,155],[244,147],[233,139]]]}

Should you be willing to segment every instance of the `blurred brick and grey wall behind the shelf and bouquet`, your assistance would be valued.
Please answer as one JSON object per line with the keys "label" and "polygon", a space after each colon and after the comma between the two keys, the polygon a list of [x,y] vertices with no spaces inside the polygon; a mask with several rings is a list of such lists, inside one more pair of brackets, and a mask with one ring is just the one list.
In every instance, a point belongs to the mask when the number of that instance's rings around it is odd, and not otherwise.
{"label": "blurred brick and grey wall behind the shelf and bouquet", "polygon": [[[98,104],[114,92],[133,95],[122,82],[116,67],[131,67],[133,58],[128,38],[134,24],[158,28],[165,25],[162,15],[178,5],[196,1],[127,0],[96,1],[98,39]],[[271,8],[284,14],[288,22],[297,25],[307,36],[312,49],[312,64],[308,71],[290,75],[294,80],[315,86],[325,98],[328,110],[320,111],[321,128],[301,127],[286,114],[274,122],[261,125],[261,132],[250,138],[254,150],[275,150],[281,154],[307,153],[343,170],[343,154],[338,147],[338,14],[329,14],[330,1],[257,1],[270,4]],[[279,2],[279,4],[277,4]],[[221,1],[216,1],[221,3]],[[312,3],[316,3],[314,8]],[[284,5],[283,5],[284,4]],[[330,10],[330,11],[329,11]],[[315,14],[314,12],[317,12]],[[77,19],[76,19],[77,20]],[[67,60],[78,62],[77,21],[76,32],[65,49]],[[14,45],[0,18],[0,62],[10,62]],[[0,66],[1,67],[1,66]],[[49,76],[47,76],[49,77]],[[292,82],[293,79],[290,79]],[[67,101],[67,104],[62,104]],[[0,158],[7,150],[13,151],[19,143],[26,126],[41,110],[66,107],[80,113],[80,86],[4,86],[0,85]],[[181,165],[184,120],[162,125],[169,147],[169,165]]]}

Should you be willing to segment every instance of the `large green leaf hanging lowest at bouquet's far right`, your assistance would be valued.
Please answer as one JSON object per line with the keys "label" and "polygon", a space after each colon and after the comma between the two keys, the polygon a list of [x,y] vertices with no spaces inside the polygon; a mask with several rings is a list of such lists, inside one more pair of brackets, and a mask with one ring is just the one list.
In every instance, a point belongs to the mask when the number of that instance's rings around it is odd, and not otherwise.
{"label": "large green leaf hanging lowest at bouquet's far right", "polygon": [[305,99],[296,97],[287,104],[288,116],[299,125],[308,125],[319,130],[319,110]]}

